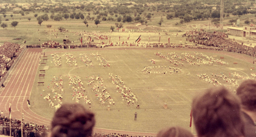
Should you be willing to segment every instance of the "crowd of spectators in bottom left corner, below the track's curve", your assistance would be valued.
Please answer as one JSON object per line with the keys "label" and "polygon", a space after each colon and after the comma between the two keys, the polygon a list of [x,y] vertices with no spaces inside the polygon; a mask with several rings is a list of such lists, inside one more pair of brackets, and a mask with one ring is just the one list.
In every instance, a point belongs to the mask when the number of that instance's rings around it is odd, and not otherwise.
{"label": "crowd of spectators in bottom left corner, below the track's curve", "polygon": [[[21,120],[15,120],[6,116],[0,116],[0,135],[21,137]],[[23,137],[45,137],[48,132],[48,126],[35,125],[34,123],[23,123]],[[10,133],[11,132],[11,133]]]}

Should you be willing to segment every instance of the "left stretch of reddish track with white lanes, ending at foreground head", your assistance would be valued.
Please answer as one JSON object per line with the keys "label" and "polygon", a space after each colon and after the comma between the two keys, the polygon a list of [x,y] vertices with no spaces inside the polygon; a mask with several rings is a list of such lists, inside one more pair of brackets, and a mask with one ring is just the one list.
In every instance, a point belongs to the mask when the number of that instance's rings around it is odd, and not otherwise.
{"label": "left stretch of reddish track with white lanes, ending at foreground head", "polygon": [[27,99],[29,99],[35,81],[41,52],[42,49],[36,50],[36,52],[26,49],[22,54],[8,77],[10,80],[0,93],[0,110],[4,114],[9,114],[9,103],[11,102],[12,118],[20,119],[22,111],[24,121],[49,125],[50,119],[35,114],[27,106]]}

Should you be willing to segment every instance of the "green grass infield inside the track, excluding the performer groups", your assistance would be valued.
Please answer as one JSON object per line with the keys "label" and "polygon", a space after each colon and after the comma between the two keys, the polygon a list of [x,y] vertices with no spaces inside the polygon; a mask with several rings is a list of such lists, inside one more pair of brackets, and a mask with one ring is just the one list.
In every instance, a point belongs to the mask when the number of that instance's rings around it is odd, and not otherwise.
{"label": "green grass infield inside the track, excluding the performer groups", "polygon": [[[86,93],[88,98],[91,99],[91,110],[96,113],[96,127],[108,128],[115,130],[127,130],[127,131],[141,131],[141,132],[158,132],[160,129],[167,126],[181,126],[188,130],[190,122],[190,110],[191,101],[193,97],[203,92],[206,88],[213,85],[206,83],[203,80],[199,80],[196,74],[206,73],[209,76],[211,73],[239,73],[244,77],[251,78],[251,73],[255,73],[255,70],[250,70],[250,67],[254,67],[253,64],[243,62],[242,60],[235,59],[230,56],[224,56],[222,61],[229,62],[229,65],[200,65],[191,66],[186,62],[184,66],[178,66],[182,68],[182,72],[178,74],[143,74],[141,71],[144,66],[153,65],[150,60],[155,59],[154,65],[171,66],[167,60],[156,56],[155,52],[166,54],[168,52],[175,52],[181,57],[181,53],[184,51],[174,51],[173,49],[130,49],[123,48],[116,50],[113,48],[101,49],[44,49],[44,52],[48,54],[49,69],[46,70],[46,77],[36,77],[33,90],[30,96],[32,104],[32,111],[44,117],[51,118],[55,112],[54,108],[49,107],[49,103],[46,102],[43,97],[47,93],[51,93],[51,88],[48,89],[47,85],[52,86],[51,79],[53,75],[63,77],[63,103],[75,102],[72,100],[72,89],[69,86],[68,78],[78,76],[81,77],[83,84],[86,87]],[[98,52],[111,64],[109,68],[102,68],[97,62],[96,58],[90,56],[91,53]],[[190,54],[194,54],[192,51],[185,51]],[[62,58],[62,67],[54,68],[50,53],[58,53]],[[64,53],[73,54],[78,62],[78,67],[68,67],[66,63]],[[92,60],[94,67],[87,68],[85,64],[79,59],[79,54],[86,53]],[[220,54],[213,54],[202,52],[208,56],[214,56],[216,59],[220,59]],[[195,60],[196,62],[196,60]],[[238,64],[233,64],[238,62]],[[39,66],[41,70],[43,66]],[[159,70],[164,70],[159,69]],[[138,98],[138,104],[140,109],[136,109],[136,105],[127,106],[126,102],[122,101],[121,94],[116,92],[116,86],[109,79],[109,73],[113,75],[121,76],[122,80],[127,87],[130,87],[136,97]],[[92,85],[87,86],[89,80],[88,76],[100,76],[103,77],[104,85],[107,87],[107,91],[111,94],[115,100],[115,106],[111,105],[111,111],[107,111],[107,106],[101,106],[97,97],[92,92]],[[38,81],[44,81],[44,86],[37,86]],[[239,83],[241,80],[238,80]],[[236,87],[231,84],[223,82],[222,85],[230,87],[229,89],[234,92]],[[44,90],[44,91],[43,91]],[[41,96],[42,94],[42,96]],[[168,109],[163,108],[164,101],[168,103]],[[83,101],[80,101],[84,104]],[[56,105],[56,104],[55,104]],[[85,105],[87,108],[88,106]],[[138,113],[137,121],[134,121],[134,113]],[[194,132],[195,133],[195,132]]]}

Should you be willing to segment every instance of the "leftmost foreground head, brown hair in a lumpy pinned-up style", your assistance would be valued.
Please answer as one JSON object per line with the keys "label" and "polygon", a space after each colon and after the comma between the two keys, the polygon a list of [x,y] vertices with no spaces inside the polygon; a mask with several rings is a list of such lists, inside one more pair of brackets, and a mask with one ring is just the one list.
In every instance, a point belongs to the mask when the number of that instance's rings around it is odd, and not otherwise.
{"label": "leftmost foreground head, brown hair in a lumpy pinned-up style", "polygon": [[51,137],[89,137],[95,125],[94,114],[80,104],[64,104],[52,119]]}

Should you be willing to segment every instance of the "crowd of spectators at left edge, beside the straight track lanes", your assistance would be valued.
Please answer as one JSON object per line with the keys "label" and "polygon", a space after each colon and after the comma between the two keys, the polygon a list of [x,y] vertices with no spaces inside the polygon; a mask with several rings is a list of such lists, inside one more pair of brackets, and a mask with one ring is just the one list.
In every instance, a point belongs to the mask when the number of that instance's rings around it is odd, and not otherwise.
{"label": "crowd of spectators at left edge, beside the straight track lanes", "polygon": [[23,49],[20,44],[5,42],[0,45],[0,81],[11,68],[14,60],[19,56]]}

